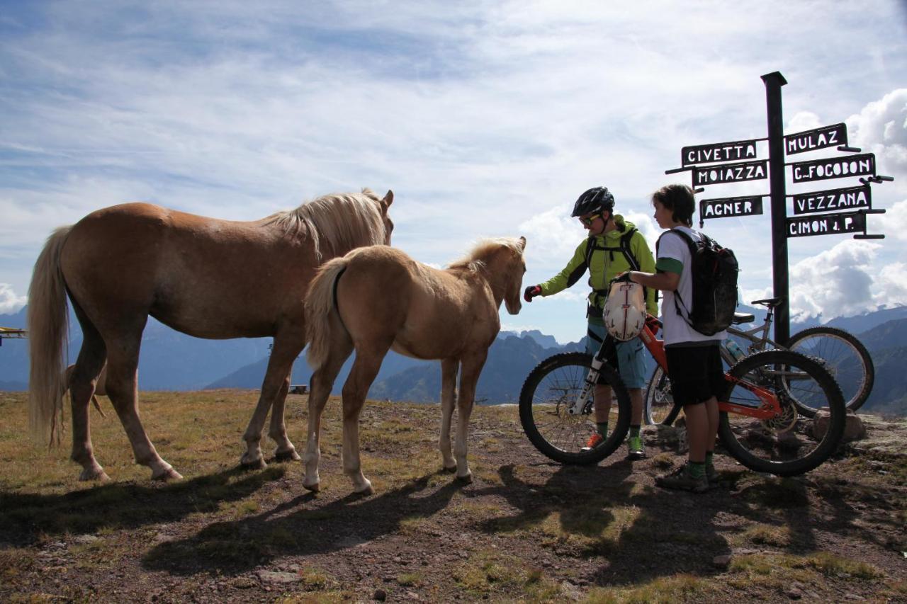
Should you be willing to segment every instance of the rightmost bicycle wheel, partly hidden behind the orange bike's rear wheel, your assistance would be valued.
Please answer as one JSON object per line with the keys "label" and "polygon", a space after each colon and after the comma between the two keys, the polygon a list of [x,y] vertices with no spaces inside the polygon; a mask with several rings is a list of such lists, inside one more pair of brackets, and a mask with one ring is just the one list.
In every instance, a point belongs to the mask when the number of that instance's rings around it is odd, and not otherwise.
{"label": "rightmost bicycle wheel, partly hidden behind the orange bike's rear wheel", "polygon": [[866,346],[844,329],[810,327],[791,336],[787,348],[822,359],[825,369],[841,386],[848,409],[859,409],[873,392],[873,358]]}

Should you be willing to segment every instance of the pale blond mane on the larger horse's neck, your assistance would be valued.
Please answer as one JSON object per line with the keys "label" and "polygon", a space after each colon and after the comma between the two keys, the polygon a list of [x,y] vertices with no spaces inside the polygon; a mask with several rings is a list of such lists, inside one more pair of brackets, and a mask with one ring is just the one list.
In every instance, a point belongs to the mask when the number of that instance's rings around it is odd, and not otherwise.
{"label": "pale blond mane on the larger horse's neck", "polygon": [[262,220],[265,226],[275,225],[288,233],[307,231],[320,260],[329,248],[333,255],[341,251],[385,242],[385,223],[376,201],[375,191],[361,193],[331,193],[307,201],[296,209],[271,214]]}

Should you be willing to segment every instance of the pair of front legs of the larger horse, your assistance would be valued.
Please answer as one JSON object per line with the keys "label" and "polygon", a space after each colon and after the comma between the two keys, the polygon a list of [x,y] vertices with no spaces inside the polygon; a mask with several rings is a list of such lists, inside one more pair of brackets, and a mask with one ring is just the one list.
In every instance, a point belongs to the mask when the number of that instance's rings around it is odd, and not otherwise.
{"label": "pair of front legs of the larger horse", "polygon": [[[286,398],[289,388],[289,374],[293,369],[293,361],[305,346],[305,332],[302,326],[293,326],[278,331],[274,336],[274,346],[271,346],[271,356],[268,360],[268,371],[265,381],[261,385],[261,394],[258,395],[258,404],[249,420],[249,426],[242,440],[246,441],[246,453],[239,459],[239,465],[244,468],[264,468],[264,455],[261,454],[261,431],[265,427],[265,418],[268,410],[276,405],[278,397]],[[296,447],[287,438],[287,428],[283,421],[283,401],[280,399],[279,418],[271,420],[271,437],[278,443],[278,453],[283,459],[299,459]],[[277,415],[275,408],[274,414]],[[275,428],[277,426],[277,428]]]}

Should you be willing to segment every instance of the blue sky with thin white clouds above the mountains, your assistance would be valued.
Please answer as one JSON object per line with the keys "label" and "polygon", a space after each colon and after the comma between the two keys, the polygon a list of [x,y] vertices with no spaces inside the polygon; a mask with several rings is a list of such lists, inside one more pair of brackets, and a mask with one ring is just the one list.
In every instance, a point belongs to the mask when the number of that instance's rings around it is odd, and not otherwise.
{"label": "blue sky with thin white clouds above the mountains", "polygon": [[[394,245],[414,258],[524,235],[536,283],[582,239],[569,214],[591,186],[654,246],[649,195],[689,181],[664,170],[684,145],[766,136],[775,71],[785,132],[847,122],[895,177],[873,188],[886,239],[790,240],[793,313],[907,304],[904,3],[680,4],[0,2],[0,314],[26,302],[50,232],[93,209],[258,219],[365,186],[395,191]],[[767,209],[706,230],[736,250],[743,299],[769,294]],[[502,323],[576,340],[586,293]]]}

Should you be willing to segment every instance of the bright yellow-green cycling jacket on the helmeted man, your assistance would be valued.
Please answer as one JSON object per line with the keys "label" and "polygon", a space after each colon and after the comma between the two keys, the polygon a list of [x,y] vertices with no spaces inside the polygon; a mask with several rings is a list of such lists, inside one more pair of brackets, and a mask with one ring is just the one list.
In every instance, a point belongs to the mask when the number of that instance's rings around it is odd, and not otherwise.
{"label": "bright yellow-green cycling jacket on the helmeted man", "polygon": [[[604,307],[610,280],[625,270],[631,269],[629,261],[618,248],[620,248],[620,238],[626,234],[628,229],[634,229],[633,223],[625,222],[619,215],[614,216],[614,221],[618,225],[617,229],[604,235],[583,239],[573,252],[573,258],[567,263],[567,266],[554,277],[539,284],[542,296],[551,296],[571,287],[586,274],[588,269],[589,285],[592,288],[589,294],[589,304],[597,308]],[[593,244],[594,247],[591,256],[588,254],[590,244]],[[629,252],[639,263],[639,270],[647,273],[655,272],[655,258],[652,258],[649,244],[646,243],[646,238],[639,230],[634,232],[629,239]],[[587,257],[589,257],[588,264]],[[655,299],[655,290],[651,287],[646,289],[646,310],[649,314],[658,316],[658,302]]]}

